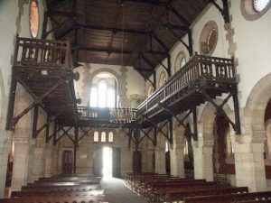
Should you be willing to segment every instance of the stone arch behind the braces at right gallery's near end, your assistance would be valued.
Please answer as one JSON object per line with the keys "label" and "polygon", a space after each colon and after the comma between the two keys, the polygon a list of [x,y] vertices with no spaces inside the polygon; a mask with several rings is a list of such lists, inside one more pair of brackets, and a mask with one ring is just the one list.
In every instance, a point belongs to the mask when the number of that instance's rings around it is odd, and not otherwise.
{"label": "stone arch behind the braces at right gallery's near end", "polygon": [[[214,100],[217,105],[220,105],[223,100],[220,98],[217,98]],[[230,109],[228,104],[225,104],[223,106],[223,110],[225,111],[226,115],[229,116],[229,118],[233,121],[233,112]],[[214,137],[213,137],[213,127],[215,124],[215,118],[216,118],[216,108],[213,106],[210,102],[207,103],[206,106],[204,106],[201,115],[199,115],[200,122],[198,125],[198,138],[202,139],[203,142],[214,142]],[[231,125],[230,129],[232,129]]]}

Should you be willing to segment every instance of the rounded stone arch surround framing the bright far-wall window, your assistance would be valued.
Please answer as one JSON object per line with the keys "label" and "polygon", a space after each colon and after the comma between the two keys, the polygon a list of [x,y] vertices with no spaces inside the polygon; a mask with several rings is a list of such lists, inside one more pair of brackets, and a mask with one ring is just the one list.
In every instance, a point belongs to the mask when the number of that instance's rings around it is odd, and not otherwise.
{"label": "rounded stone arch surround framing the bright far-wall window", "polygon": [[92,84],[92,80],[93,78],[95,78],[99,73],[101,72],[107,72],[110,73],[117,81],[117,92],[121,93],[121,90],[123,88],[121,88],[121,84],[124,84],[124,82],[122,81],[122,78],[120,77],[120,74],[117,74],[117,72],[113,69],[108,69],[108,68],[101,68],[101,69],[96,69],[93,72],[91,72],[87,83],[89,84],[85,84],[85,87],[88,87],[88,98],[90,97],[90,89],[91,89],[91,84]]}

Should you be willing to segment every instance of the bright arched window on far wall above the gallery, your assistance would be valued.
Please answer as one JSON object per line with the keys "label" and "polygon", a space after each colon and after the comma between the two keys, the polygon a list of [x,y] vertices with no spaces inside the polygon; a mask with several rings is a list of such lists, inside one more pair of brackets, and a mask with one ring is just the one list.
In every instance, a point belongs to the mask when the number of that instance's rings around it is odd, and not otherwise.
{"label": "bright arched window on far wall above the gallery", "polygon": [[117,81],[107,72],[93,78],[90,91],[90,107],[117,107]]}

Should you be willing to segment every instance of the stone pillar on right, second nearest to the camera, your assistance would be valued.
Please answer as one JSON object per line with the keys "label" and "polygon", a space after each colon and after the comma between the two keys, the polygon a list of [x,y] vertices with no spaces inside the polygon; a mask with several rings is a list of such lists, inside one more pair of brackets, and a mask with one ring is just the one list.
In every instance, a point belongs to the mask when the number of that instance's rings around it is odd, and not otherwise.
{"label": "stone pillar on right, second nearest to the camera", "polygon": [[213,141],[203,142],[201,137],[199,141],[193,142],[195,179],[213,181],[212,147]]}

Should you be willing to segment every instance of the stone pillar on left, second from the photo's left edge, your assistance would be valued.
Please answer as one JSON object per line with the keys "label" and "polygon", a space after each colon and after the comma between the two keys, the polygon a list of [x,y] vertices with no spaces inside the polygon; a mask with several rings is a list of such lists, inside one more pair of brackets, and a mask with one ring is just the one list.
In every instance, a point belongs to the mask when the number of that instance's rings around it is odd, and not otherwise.
{"label": "stone pillar on left, second from the photo's left edge", "polygon": [[14,171],[12,191],[21,190],[28,181],[29,139],[26,137],[14,138]]}

